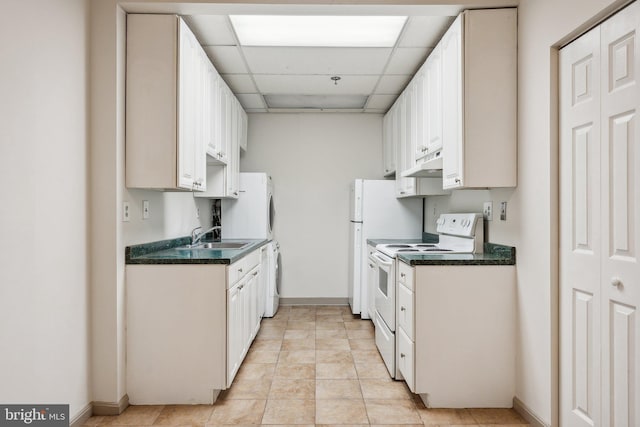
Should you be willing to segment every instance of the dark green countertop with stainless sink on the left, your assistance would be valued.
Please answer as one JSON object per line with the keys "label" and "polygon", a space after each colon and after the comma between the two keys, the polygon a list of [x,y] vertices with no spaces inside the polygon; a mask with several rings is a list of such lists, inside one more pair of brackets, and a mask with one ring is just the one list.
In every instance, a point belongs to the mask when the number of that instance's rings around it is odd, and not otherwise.
{"label": "dark green countertop with stainless sink on the left", "polygon": [[176,249],[191,242],[190,237],[160,240],[127,246],[125,264],[232,264],[266,245],[264,239],[223,239],[222,242],[251,242],[242,249]]}

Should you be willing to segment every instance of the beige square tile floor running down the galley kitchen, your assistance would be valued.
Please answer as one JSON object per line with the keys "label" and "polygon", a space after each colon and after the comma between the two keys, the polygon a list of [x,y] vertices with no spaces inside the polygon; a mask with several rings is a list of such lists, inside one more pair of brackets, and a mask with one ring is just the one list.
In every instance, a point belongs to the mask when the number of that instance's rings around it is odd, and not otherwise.
{"label": "beige square tile floor running down the galley kitchen", "polygon": [[389,378],[373,332],[348,307],[280,307],[214,405],[130,406],[85,425],[527,426],[511,409],[426,409]]}

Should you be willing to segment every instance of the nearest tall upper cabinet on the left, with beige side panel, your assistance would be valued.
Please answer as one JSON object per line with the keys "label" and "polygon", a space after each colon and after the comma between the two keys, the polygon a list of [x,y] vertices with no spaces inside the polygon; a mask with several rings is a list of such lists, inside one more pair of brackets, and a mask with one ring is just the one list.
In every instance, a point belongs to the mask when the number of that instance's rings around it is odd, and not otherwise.
{"label": "nearest tall upper cabinet on the left, with beige side panel", "polygon": [[128,16],[127,187],[205,189],[207,62],[177,16]]}

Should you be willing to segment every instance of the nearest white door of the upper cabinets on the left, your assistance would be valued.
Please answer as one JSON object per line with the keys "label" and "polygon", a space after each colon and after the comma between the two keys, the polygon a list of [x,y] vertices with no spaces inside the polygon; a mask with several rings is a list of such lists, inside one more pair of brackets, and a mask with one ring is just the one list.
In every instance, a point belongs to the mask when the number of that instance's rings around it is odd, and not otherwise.
{"label": "nearest white door of the upper cabinets on the left", "polygon": [[197,41],[180,20],[178,85],[178,187],[191,190],[195,182],[196,111],[198,51]]}

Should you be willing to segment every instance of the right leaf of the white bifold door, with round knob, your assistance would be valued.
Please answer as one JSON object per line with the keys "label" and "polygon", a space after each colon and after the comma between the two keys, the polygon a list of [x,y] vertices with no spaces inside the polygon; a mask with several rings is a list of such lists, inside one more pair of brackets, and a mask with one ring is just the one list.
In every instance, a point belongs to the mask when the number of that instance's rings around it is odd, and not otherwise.
{"label": "right leaf of the white bifold door, with round knob", "polygon": [[637,2],[602,24],[602,420],[604,426],[640,422],[640,52]]}

